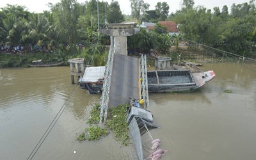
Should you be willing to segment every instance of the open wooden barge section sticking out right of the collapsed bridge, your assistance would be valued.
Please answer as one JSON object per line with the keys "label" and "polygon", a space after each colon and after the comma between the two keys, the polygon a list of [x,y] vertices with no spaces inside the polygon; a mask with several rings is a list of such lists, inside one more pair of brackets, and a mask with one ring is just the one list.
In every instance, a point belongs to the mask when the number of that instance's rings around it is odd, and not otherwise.
{"label": "open wooden barge section sticking out right of the collapsed bridge", "polygon": [[213,70],[199,73],[191,70],[148,71],[148,92],[194,92],[215,76]]}

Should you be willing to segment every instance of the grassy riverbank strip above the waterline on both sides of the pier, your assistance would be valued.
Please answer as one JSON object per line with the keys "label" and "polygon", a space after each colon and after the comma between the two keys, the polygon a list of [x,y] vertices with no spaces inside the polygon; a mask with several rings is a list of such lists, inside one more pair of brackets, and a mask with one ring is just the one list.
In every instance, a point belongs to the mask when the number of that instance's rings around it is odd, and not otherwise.
{"label": "grassy riverbank strip above the waterline on both sides of the pier", "polygon": [[[106,50],[107,51],[107,50]],[[103,51],[104,52],[104,51]],[[107,52],[102,54],[89,54],[86,49],[83,51],[74,51],[72,54],[63,51],[56,52],[23,52],[22,54],[1,53],[0,54],[0,68],[12,67],[29,67],[33,60],[43,60],[45,63],[51,61],[63,61],[63,65],[68,65],[70,58],[84,58],[85,63],[93,61],[95,66],[104,65],[107,59]],[[140,56],[131,54],[140,58]],[[188,51],[187,49],[179,49],[170,51],[170,54],[148,54],[147,65],[154,67],[155,56],[168,56],[172,58],[172,63],[180,63],[182,61],[190,61],[193,63],[218,63],[224,61],[233,61],[243,63],[243,58],[236,56],[227,56],[224,54],[212,54],[205,51]],[[93,59],[93,60],[92,60]],[[253,59],[253,57],[252,57]]]}

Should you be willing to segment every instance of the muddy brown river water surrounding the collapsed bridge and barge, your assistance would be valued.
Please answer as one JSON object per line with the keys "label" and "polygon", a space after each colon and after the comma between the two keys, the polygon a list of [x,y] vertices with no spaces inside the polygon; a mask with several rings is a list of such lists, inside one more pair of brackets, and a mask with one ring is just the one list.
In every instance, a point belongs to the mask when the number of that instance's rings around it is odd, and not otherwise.
{"label": "muddy brown river water surrounding the collapsed bridge and barge", "polygon": [[[148,109],[161,126],[150,133],[168,150],[162,159],[255,160],[256,65],[213,63],[202,69],[216,77],[198,92],[149,95]],[[100,95],[71,84],[69,67],[0,69],[0,159],[27,159],[69,96],[33,159],[136,159],[134,146],[120,145],[113,134],[76,140]]]}

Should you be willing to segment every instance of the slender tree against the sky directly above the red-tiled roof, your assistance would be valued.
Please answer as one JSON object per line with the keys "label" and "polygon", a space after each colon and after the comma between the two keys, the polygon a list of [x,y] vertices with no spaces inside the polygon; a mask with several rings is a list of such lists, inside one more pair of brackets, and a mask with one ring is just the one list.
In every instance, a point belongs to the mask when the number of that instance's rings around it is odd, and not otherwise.
{"label": "slender tree against the sky directly above the red-tiled roof", "polygon": [[156,14],[158,16],[158,21],[164,21],[167,19],[169,13],[169,6],[166,2],[158,2],[156,4]]}

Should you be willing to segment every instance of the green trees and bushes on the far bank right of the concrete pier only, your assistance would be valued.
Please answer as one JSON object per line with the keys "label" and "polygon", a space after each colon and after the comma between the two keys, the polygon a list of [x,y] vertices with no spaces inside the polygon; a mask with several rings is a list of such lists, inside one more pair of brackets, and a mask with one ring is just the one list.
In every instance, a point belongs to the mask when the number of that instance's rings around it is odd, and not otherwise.
{"label": "green trees and bushes on the far bank right of the concrete pier only", "polygon": [[[208,51],[214,48],[241,56],[255,56],[255,0],[249,3],[233,4],[230,13],[228,13],[228,6],[223,6],[222,10],[214,7],[212,11],[194,4],[193,0],[184,0],[182,8],[168,17],[168,20],[177,23],[179,36],[167,36],[166,29],[157,24],[152,31],[147,33],[142,31],[140,35],[129,38],[129,49],[135,52],[154,50],[161,54],[168,54],[171,45],[175,45],[177,50],[179,41],[183,40],[187,42],[190,51],[198,51],[199,44],[202,44],[208,46],[204,47]],[[158,22],[166,20],[168,10],[169,6],[166,3],[157,3],[156,10],[146,10],[140,17],[145,22]]]}

